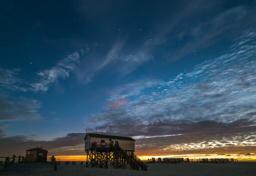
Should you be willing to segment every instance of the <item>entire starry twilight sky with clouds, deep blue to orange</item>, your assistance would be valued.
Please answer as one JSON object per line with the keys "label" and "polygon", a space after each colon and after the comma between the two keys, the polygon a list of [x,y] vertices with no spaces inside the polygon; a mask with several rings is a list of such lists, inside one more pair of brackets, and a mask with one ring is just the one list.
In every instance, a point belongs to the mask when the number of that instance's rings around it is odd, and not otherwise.
{"label": "entire starry twilight sky with clouds, deep blue to orange", "polygon": [[[255,1],[0,1],[0,155],[256,159]],[[17,148],[17,146],[19,146]]]}

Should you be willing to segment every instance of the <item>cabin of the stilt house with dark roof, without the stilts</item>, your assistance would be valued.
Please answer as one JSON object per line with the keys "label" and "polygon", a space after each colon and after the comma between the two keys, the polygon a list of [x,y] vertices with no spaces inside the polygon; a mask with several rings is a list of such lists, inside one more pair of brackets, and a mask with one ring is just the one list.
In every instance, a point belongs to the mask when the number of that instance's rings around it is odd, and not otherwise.
{"label": "cabin of the stilt house with dark roof, without the stilts", "polygon": [[84,140],[85,150],[89,150],[95,145],[106,146],[109,144],[119,144],[119,146],[125,151],[135,151],[136,140],[132,139],[131,137],[86,133]]}

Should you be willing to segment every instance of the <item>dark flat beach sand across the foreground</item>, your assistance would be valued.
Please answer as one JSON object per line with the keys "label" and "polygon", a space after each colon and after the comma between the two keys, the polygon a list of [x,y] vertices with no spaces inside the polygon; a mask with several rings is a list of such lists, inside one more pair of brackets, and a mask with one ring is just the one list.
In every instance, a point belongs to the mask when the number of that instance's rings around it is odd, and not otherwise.
{"label": "dark flat beach sand across the foreground", "polygon": [[[19,165],[19,167],[17,167]],[[86,168],[85,165],[58,165],[54,171],[50,163],[19,163],[0,171],[0,175],[8,176],[256,176],[256,162],[238,163],[179,163],[179,164],[147,164],[148,171],[126,169]],[[24,166],[24,167],[22,167]]]}

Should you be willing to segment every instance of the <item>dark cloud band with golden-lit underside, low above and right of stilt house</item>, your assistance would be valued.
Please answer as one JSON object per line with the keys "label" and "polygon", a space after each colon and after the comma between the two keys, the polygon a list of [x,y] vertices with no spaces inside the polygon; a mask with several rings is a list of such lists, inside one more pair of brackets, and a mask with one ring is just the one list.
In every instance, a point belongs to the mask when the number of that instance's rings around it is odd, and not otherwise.
{"label": "dark cloud band with golden-lit underside, low above and right of stilt house", "polygon": [[[158,122],[143,124],[142,118],[135,117],[135,120],[129,117],[124,110],[119,109],[117,114],[114,113],[115,109],[108,111],[111,112],[109,122],[98,126],[98,130],[105,131],[106,134],[122,134],[123,136],[129,136],[129,133],[132,133],[137,140],[136,146],[139,150],[147,147],[157,150],[159,145],[165,149],[165,152],[186,151],[191,147],[194,150],[202,150],[204,148],[250,146],[253,145],[251,136],[256,135],[256,121],[250,119],[239,119],[231,123],[209,120],[183,122],[161,120],[163,116],[157,115],[154,118],[158,117]],[[152,140],[155,141],[153,144]]]}

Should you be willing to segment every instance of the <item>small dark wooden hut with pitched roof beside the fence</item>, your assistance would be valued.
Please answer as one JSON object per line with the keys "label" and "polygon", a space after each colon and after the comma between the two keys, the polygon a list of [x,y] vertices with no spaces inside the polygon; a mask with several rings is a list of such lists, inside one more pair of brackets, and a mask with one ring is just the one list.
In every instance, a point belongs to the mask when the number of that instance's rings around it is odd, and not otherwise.
{"label": "small dark wooden hut with pitched roof beside the fence", "polygon": [[33,148],[27,150],[26,153],[26,163],[40,163],[46,162],[47,160],[47,150],[41,148]]}

